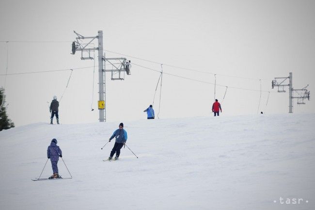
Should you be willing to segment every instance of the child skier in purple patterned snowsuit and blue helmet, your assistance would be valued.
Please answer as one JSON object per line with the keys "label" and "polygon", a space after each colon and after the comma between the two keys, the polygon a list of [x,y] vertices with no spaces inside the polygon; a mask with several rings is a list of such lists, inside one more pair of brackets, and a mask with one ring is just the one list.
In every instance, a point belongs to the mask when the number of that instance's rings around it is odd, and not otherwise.
{"label": "child skier in purple patterned snowsuit and blue helmet", "polygon": [[51,175],[51,177],[49,178],[59,178],[58,175],[58,166],[57,163],[59,161],[59,157],[63,157],[62,155],[62,151],[59,148],[59,146],[57,146],[57,140],[56,139],[52,139],[50,145],[47,148],[47,158],[50,158],[51,161],[51,167],[52,167],[52,171],[53,171],[53,175]]}

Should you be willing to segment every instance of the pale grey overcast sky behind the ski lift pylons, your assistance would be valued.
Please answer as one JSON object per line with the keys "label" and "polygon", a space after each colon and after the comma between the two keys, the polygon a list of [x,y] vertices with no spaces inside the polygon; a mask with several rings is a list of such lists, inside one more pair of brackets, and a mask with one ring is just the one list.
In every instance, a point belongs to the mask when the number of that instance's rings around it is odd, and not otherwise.
{"label": "pale grey overcast sky behind the ski lift pylons", "polygon": [[[0,42],[0,74],[6,72],[7,50],[8,74],[94,66],[93,60],[70,54],[73,31],[96,36],[102,30],[106,50],[206,72],[164,65],[165,73],[209,83],[217,74],[217,84],[223,85],[216,88],[219,101],[224,86],[260,90],[261,79],[266,92],[259,112],[288,113],[288,88],[275,93],[271,80],[293,72],[293,87],[309,84],[311,91],[305,105],[294,100],[294,113],[314,113],[314,11],[314,0],[0,0],[0,40],[9,41]],[[106,57],[126,57],[131,64],[161,69],[128,56],[106,52]],[[108,121],[146,118],[143,110],[153,102],[159,73],[137,65],[125,81],[111,81],[107,73]],[[16,126],[48,123],[48,104],[54,95],[60,99],[70,73],[8,75],[7,111]],[[73,71],[60,103],[61,123],[98,121],[97,67],[94,79],[93,93],[93,67]],[[0,86],[4,81],[1,75]],[[259,91],[228,88],[222,115],[256,114],[259,99]],[[164,74],[159,117],[210,116],[213,100],[214,85]],[[159,89],[156,113],[158,103]]]}

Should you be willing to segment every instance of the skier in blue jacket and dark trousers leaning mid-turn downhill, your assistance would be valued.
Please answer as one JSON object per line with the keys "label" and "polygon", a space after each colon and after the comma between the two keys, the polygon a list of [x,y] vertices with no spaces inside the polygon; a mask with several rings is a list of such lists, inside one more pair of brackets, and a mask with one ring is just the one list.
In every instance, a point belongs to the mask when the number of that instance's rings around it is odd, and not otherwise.
{"label": "skier in blue jacket and dark trousers leaning mid-turn downhill", "polygon": [[115,160],[118,160],[119,155],[120,155],[120,149],[123,147],[123,145],[125,145],[126,141],[127,141],[127,132],[124,129],[124,124],[120,123],[119,124],[119,129],[115,130],[115,132],[112,134],[112,136],[110,137],[109,142],[113,139],[116,138],[115,140],[115,145],[112,148],[111,152],[110,152],[110,157],[108,158],[108,160],[112,159],[112,156],[116,153],[116,157],[114,158]]}

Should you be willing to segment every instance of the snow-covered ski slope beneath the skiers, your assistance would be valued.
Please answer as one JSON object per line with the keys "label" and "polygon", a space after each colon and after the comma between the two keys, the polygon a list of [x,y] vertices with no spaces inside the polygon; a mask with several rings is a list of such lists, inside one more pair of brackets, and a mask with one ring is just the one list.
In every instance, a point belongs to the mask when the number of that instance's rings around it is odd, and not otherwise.
{"label": "snow-covered ski slope beneath the skiers", "polygon": [[[314,113],[124,122],[139,159],[126,147],[121,160],[103,162],[119,123],[1,131],[0,210],[315,209]],[[52,138],[73,178],[31,181]],[[51,174],[48,161],[42,177]]]}

